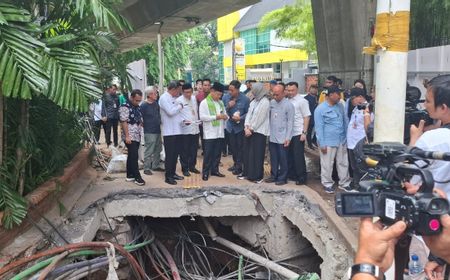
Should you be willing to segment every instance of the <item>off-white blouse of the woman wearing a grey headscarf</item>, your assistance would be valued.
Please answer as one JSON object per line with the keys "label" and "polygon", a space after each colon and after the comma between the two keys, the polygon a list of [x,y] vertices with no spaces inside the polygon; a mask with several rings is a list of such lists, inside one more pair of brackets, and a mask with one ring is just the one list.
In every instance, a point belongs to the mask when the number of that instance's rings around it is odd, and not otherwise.
{"label": "off-white blouse of the woman wearing a grey headscarf", "polygon": [[253,132],[269,136],[270,133],[270,101],[268,98],[261,100],[253,99],[250,102],[247,116],[245,116],[245,126],[249,126]]}

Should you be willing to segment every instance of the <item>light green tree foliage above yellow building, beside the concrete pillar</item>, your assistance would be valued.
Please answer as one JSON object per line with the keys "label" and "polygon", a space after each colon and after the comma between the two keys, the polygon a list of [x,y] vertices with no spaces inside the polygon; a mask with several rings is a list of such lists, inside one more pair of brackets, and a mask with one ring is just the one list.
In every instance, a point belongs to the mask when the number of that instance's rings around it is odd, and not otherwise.
{"label": "light green tree foliage above yellow building, beside the concrete pillar", "polygon": [[307,51],[310,56],[317,53],[310,0],[297,0],[295,5],[264,15],[259,28],[273,29],[279,38],[297,41],[299,48]]}

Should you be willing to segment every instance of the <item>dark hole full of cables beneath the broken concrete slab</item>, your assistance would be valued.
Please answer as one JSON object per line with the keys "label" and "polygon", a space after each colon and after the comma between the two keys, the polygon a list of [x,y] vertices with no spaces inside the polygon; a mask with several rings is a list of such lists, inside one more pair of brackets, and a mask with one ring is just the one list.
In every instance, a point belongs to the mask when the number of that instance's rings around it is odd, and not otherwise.
{"label": "dark hole full of cables beneath the broken concrete slab", "polygon": [[[133,240],[144,241],[155,236],[154,245],[137,253],[137,259],[152,279],[157,279],[161,272],[171,278],[166,272],[170,267],[166,263],[165,249],[173,258],[181,279],[237,279],[239,270],[243,279],[284,279],[248,257],[242,257],[240,268],[240,254],[212,240],[201,217],[127,217],[126,221]],[[209,218],[208,222],[218,236],[289,270],[300,275],[320,274],[322,259],[298,228],[288,221],[284,230],[271,233],[259,217]],[[243,228],[243,225],[246,226]],[[248,231],[249,226],[260,231]],[[289,243],[289,246],[280,243]]]}

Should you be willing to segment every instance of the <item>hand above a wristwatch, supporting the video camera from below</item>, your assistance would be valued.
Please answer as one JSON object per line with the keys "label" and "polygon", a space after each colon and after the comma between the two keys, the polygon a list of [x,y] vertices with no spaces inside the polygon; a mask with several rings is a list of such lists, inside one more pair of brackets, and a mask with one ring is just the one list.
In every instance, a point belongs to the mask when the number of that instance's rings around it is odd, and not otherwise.
{"label": "hand above a wristwatch, supporting the video camera from below", "polygon": [[386,272],[394,261],[395,243],[405,229],[406,224],[403,221],[383,229],[380,222],[373,223],[372,218],[362,218],[355,264],[373,264],[383,273]]}

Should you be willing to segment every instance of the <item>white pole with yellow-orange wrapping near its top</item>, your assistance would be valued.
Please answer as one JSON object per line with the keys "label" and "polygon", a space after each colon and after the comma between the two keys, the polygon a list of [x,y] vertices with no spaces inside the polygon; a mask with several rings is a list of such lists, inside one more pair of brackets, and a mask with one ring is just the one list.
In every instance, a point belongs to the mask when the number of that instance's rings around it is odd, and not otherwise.
{"label": "white pole with yellow-orange wrapping near its top", "polygon": [[374,142],[403,143],[410,0],[378,0],[375,35],[364,52],[375,55]]}

